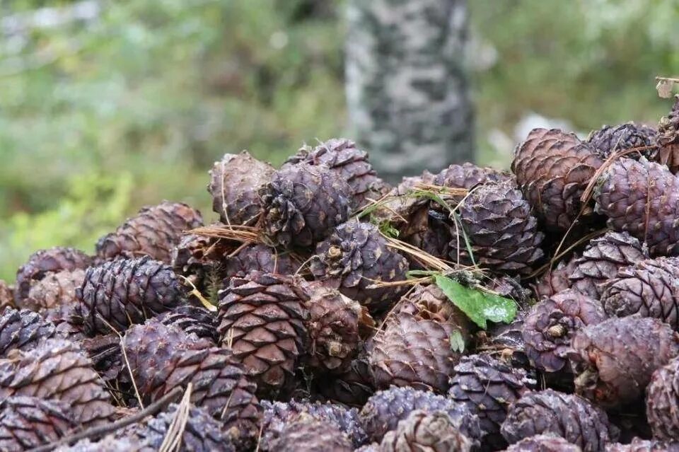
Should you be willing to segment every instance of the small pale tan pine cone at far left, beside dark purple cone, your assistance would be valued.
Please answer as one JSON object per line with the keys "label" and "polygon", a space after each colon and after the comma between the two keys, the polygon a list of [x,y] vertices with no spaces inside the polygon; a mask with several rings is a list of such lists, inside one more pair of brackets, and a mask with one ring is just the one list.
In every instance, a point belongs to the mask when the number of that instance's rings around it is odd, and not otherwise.
{"label": "small pale tan pine cone at far left, beside dark purple cone", "polygon": [[76,288],[83,284],[84,279],[85,271],[82,269],[47,274],[40,281],[31,284],[28,298],[23,299],[19,305],[31,311],[40,311],[75,303]]}

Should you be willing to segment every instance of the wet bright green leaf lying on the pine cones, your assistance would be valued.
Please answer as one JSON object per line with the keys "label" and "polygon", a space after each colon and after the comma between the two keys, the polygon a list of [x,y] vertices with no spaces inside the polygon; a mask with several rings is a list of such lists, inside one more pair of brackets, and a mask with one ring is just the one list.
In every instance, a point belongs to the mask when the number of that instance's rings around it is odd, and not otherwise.
{"label": "wet bright green leaf lying on the pine cones", "polygon": [[435,274],[434,281],[455,306],[481,328],[487,320],[510,323],[516,316],[516,303],[499,295],[470,289],[442,274]]}

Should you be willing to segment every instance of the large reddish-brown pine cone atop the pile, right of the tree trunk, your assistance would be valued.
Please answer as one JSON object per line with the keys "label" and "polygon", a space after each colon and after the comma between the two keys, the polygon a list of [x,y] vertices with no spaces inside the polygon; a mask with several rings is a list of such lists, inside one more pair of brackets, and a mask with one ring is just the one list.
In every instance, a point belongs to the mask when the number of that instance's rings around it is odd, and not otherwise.
{"label": "large reddish-brown pine cone atop the pile, right of the tree trunk", "polygon": [[[533,212],[552,231],[563,231],[578,217],[580,196],[603,161],[574,134],[533,129],[514,151],[511,169]],[[591,210],[580,220],[586,222]]]}

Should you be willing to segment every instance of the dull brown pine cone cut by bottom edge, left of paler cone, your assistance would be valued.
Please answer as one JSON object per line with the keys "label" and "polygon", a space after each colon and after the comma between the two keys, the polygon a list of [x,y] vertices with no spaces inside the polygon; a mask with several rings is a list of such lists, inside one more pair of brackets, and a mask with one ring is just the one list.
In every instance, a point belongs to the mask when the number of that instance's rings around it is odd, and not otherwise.
{"label": "dull brown pine cone cut by bottom edge, left of paler cone", "polygon": [[352,442],[347,435],[332,424],[313,417],[300,417],[286,425],[273,441],[272,451],[277,452],[352,452]]}

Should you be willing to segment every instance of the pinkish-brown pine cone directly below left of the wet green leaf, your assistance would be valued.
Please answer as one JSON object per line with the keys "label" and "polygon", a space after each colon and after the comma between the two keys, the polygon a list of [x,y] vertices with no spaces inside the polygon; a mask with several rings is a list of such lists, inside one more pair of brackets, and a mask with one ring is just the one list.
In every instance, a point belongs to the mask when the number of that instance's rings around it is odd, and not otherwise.
{"label": "pinkish-brown pine cone directly below left of the wet green leaf", "polygon": [[445,393],[448,376],[461,352],[451,346],[451,336],[460,335],[465,342],[468,340],[462,336],[463,328],[455,323],[455,314],[451,320],[418,318],[418,313],[405,310],[389,318],[385,328],[368,344],[376,388],[412,386]]}

